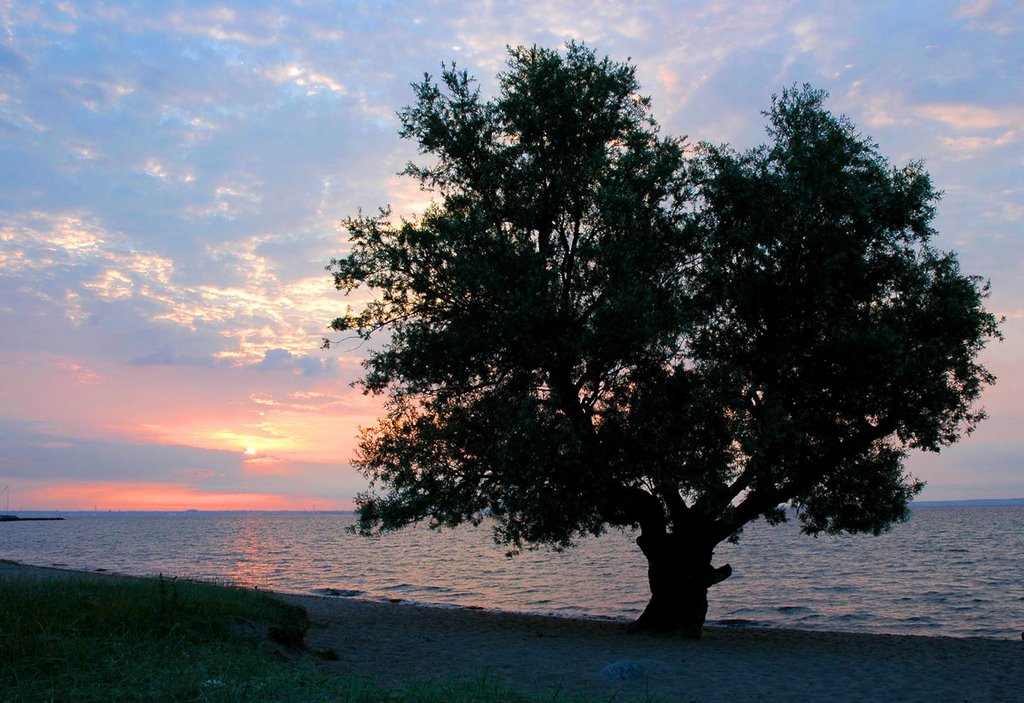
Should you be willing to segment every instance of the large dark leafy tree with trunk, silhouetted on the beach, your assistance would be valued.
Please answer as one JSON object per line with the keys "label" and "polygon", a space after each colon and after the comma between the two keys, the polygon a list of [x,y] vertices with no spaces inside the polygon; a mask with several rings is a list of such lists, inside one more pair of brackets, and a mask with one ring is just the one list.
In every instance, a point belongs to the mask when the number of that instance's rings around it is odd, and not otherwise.
{"label": "large dark leafy tree with trunk, silhouetted on the beach", "polygon": [[[639,530],[636,623],[700,636],[716,546],[759,517],[882,532],[983,418],[987,285],[929,244],[938,193],[807,86],[745,152],[660,136],[635,68],[583,45],[510,50],[484,100],[455,65],[415,84],[430,159],[416,220],[345,221],[328,266],[383,333],[387,398],[356,466],[364,533],[488,519],[515,552]],[[330,343],[327,343],[330,344]]]}

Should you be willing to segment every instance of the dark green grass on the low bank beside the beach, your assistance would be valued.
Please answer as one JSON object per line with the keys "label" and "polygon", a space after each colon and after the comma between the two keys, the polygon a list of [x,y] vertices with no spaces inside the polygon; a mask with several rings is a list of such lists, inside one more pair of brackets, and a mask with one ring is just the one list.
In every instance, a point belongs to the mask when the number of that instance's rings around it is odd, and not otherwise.
{"label": "dark green grass on the low bank beside the beach", "polygon": [[0,702],[586,700],[527,695],[486,677],[386,690],[327,675],[303,645],[308,626],[301,608],[272,595],[210,583],[0,578]]}

